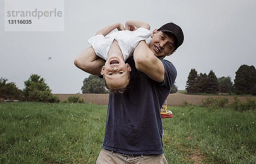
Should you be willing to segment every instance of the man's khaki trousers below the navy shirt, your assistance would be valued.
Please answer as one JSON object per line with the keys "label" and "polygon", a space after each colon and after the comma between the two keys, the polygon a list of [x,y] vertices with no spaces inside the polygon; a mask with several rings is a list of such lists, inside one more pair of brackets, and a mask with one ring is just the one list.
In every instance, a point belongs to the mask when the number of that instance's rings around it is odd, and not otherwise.
{"label": "man's khaki trousers below the navy shirt", "polygon": [[121,153],[102,149],[96,164],[168,164],[168,162],[163,154],[126,156]]}

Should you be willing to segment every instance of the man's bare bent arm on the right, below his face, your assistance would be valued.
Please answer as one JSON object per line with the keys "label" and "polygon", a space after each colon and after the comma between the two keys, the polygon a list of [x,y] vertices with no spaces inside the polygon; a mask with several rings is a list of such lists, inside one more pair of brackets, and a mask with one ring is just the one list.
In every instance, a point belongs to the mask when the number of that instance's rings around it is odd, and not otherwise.
{"label": "man's bare bent arm on the right, below his face", "polygon": [[139,42],[134,50],[136,68],[157,82],[164,80],[164,66],[160,59],[148,48],[145,40]]}

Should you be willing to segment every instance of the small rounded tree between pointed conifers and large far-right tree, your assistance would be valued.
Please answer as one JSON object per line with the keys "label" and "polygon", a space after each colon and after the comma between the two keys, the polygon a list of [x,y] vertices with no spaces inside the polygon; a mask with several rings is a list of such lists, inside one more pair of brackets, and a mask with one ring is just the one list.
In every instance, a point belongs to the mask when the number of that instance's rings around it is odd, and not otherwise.
{"label": "small rounded tree between pointed conifers and large far-right tree", "polygon": [[233,92],[233,82],[231,82],[231,77],[219,77],[218,78],[219,91],[221,93],[231,93]]}

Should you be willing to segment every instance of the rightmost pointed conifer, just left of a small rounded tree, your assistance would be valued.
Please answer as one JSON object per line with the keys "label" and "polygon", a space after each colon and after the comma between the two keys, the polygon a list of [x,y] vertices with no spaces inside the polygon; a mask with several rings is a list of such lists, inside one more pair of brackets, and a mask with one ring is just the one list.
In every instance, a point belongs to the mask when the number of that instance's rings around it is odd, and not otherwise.
{"label": "rightmost pointed conifer, just left of a small rounded tree", "polygon": [[218,79],[211,70],[207,76],[207,93],[215,93],[218,91]]}

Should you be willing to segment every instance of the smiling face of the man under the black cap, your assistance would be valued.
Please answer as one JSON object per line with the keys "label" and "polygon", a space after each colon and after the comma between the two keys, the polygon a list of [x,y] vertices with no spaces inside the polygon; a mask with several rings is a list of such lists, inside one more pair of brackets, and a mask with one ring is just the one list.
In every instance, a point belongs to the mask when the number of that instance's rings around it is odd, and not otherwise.
{"label": "smiling face of the man under the black cap", "polygon": [[163,59],[166,56],[174,53],[175,49],[175,35],[172,33],[165,33],[154,30],[151,34],[152,40],[148,44],[148,48],[154,52],[154,55]]}

